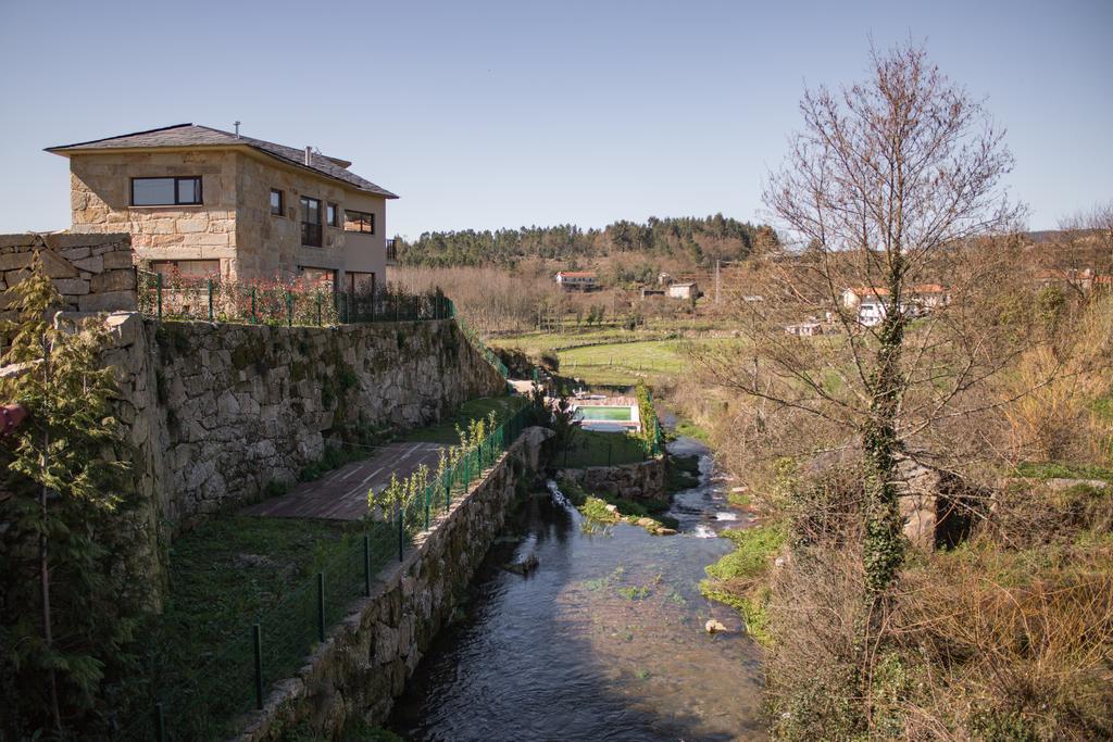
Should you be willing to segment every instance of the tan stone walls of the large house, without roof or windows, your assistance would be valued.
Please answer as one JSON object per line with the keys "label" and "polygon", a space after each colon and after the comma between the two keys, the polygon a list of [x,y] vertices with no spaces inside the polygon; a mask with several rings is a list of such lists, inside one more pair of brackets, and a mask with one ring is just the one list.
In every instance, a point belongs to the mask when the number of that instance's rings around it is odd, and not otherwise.
{"label": "tan stone walls of the large house, without roof or windows", "polygon": [[[199,176],[198,206],[131,206],[131,178]],[[237,280],[293,278],[301,269],[375,274],[385,285],[386,200],[253,150],[104,151],[70,157],[75,233],[129,231],[139,260],[218,261]],[[270,189],[283,191],[283,215],[270,214]],[[302,246],[301,197],[339,209],[339,226],[323,226],[322,247]],[[375,215],[375,234],[345,231],[343,209]]]}

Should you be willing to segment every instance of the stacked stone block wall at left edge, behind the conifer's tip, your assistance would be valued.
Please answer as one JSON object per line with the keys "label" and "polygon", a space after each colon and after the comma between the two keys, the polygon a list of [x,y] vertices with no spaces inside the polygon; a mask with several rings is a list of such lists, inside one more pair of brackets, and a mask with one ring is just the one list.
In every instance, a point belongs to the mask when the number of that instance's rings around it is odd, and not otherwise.
{"label": "stacked stone block wall at left edge, behind the conifer's tip", "polygon": [[13,297],[4,290],[28,274],[35,253],[43,270],[75,311],[115,311],[136,308],[136,274],[131,240],[126,234],[0,235],[0,317]]}

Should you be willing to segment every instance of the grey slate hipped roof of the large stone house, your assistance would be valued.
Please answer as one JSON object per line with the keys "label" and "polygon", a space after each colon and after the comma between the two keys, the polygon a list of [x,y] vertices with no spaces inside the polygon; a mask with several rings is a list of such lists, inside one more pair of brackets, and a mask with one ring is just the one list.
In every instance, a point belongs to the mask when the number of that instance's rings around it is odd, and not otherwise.
{"label": "grey slate hipped roof of the large stone house", "polygon": [[[342,180],[349,186],[355,186],[359,190],[365,190],[384,198],[397,198],[396,195],[381,188],[375,184],[361,178],[356,174],[341,165],[346,162],[339,158],[326,157],[319,152],[313,152],[309,157],[309,165],[305,164],[305,150],[295,147],[276,145],[273,141],[255,139],[243,135],[236,136],[229,131],[221,131],[207,126],[195,123],[178,123],[175,126],[150,129],[148,131],[135,131],[119,137],[108,137],[106,139],[93,139],[91,141],[79,141],[73,145],[60,145],[48,147],[48,152],[66,156],[69,152],[88,151],[97,149],[134,149],[147,147],[230,147],[246,146],[256,149],[275,159],[283,160],[287,165],[315,170],[336,180]],[[348,162],[351,165],[351,162]]]}

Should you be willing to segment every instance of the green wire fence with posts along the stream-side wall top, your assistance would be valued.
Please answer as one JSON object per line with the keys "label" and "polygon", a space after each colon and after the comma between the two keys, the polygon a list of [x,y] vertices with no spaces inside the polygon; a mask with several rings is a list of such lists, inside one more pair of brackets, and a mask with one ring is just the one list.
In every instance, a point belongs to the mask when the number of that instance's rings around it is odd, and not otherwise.
{"label": "green wire fence with posts along the stream-side wall top", "polygon": [[116,740],[215,740],[236,732],[244,712],[262,709],[270,686],[293,676],[329,626],[352,603],[371,595],[390,561],[402,561],[414,536],[435,525],[471,485],[482,478],[521,435],[530,409],[522,408],[483,441],[459,452],[416,497],[385,522],[367,522],[328,554],[311,580],[295,586],[269,610],[229,626],[211,659],[195,672],[175,674],[156,663],[148,669],[149,695],[141,712],[126,720]]}

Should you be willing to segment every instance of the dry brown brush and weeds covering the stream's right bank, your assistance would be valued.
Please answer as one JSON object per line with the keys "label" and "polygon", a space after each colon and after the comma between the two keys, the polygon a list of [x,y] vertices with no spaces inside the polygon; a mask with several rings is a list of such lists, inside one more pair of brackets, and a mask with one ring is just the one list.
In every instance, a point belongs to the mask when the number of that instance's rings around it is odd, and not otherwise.
{"label": "dry brown brush and weeds covering the stream's right bank", "polygon": [[[767,647],[777,738],[1113,735],[1113,297],[1032,289],[1007,306],[1018,314],[999,332],[1026,347],[981,388],[984,409],[907,441],[938,473],[929,537],[905,540],[869,651],[860,449],[721,377],[663,390],[760,515],[702,587]],[[792,343],[807,357],[809,342]],[[954,455],[944,444],[961,437]],[[897,471],[904,486],[920,469]]]}

